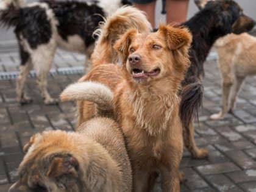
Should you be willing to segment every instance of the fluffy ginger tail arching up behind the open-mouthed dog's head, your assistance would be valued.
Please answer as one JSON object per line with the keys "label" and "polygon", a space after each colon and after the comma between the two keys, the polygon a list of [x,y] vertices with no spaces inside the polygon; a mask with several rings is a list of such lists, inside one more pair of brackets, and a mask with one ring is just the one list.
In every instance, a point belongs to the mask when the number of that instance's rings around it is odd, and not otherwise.
{"label": "fluffy ginger tail arching up behind the open-mouthed dog's head", "polygon": [[100,29],[94,32],[98,36],[96,48],[91,56],[94,65],[102,63],[116,63],[118,54],[113,49],[113,44],[129,29],[138,29],[139,32],[152,30],[151,24],[144,12],[131,6],[124,6],[109,16]]}

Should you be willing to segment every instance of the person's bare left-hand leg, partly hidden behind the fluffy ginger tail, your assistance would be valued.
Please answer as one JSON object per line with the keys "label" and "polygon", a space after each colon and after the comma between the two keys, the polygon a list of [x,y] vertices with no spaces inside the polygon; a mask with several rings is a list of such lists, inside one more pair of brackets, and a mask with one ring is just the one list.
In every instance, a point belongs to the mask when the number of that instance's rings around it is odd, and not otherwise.
{"label": "person's bare left-hand leg, partly hidden behind the fluffy ginger tail", "polygon": [[133,3],[133,6],[137,7],[143,12],[146,12],[149,23],[151,23],[153,28],[155,28],[155,1],[146,4]]}

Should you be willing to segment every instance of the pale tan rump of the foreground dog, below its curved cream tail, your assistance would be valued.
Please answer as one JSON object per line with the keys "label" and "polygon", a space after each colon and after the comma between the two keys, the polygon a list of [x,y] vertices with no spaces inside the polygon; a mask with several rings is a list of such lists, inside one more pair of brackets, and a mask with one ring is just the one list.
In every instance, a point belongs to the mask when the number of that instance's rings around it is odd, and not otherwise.
{"label": "pale tan rump of the foreground dog, below its curved cream tail", "polygon": [[123,174],[123,191],[132,191],[130,160],[127,155],[123,132],[118,124],[109,118],[93,118],[81,124],[77,132],[93,138],[108,151],[108,154],[118,163],[119,170]]}

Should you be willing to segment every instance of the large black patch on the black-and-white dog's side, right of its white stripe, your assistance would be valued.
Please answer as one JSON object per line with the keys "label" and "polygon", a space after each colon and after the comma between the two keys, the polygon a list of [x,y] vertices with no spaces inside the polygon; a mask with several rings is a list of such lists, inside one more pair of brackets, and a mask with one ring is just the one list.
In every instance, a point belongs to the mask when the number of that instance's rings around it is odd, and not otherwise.
{"label": "large black patch on the black-and-white dog's side, right of its white stripe", "polygon": [[105,16],[101,7],[96,4],[88,5],[84,2],[56,2],[43,0],[54,11],[55,18],[59,21],[58,32],[63,40],[68,40],[69,35],[79,35],[84,39],[86,46],[94,43],[93,32],[98,23],[104,21]]}

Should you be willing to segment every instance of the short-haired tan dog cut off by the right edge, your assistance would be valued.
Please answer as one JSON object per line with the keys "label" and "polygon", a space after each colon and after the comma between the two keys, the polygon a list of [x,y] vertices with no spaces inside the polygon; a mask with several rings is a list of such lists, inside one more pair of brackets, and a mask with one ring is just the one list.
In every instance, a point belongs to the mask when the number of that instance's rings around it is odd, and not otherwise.
{"label": "short-haired tan dog cut off by the right edge", "polygon": [[249,34],[226,35],[216,41],[219,71],[222,77],[222,107],[211,119],[233,112],[235,100],[246,76],[256,74],[256,38]]}

